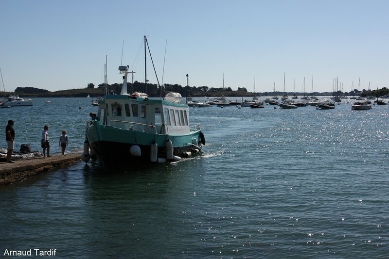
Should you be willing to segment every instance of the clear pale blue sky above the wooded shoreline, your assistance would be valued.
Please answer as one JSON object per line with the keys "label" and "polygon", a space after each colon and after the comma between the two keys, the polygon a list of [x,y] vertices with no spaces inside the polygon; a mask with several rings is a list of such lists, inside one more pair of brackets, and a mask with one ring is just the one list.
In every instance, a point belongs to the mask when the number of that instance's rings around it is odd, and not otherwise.
{"label": "clear pale blue sky above the wooded shoreline", "polygon": [[[0,68],[7,91],[144,81],[147,35],[159,81],[256,92],[389,87],[387,0],[1,0]],[[167,44],[166,44],[167,42]],[[165,57],[165,45],[166,57]],[[150,59],[148,80],[156,83]],[[2,90],[2,85],[1,85]]]}

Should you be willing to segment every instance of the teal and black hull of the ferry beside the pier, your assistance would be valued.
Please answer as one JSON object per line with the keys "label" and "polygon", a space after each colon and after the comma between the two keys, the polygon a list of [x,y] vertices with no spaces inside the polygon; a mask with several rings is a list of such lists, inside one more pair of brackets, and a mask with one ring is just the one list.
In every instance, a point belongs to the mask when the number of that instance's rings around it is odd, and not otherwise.
{"label": "teal and black hull of the ferry beside the pier", "polygon": [[[173,144],[173,156],[188,157],[187,152],[198,152],[205,143],[204,136],[200,132],[198,129],[186,135],[165,135],[97,124],[87,129],[86,136],[90,149],[97,159],[105,166],[111,166],[128,165],[131,162],[154,163],[151,161],[153,143],[157,144],[157,158],[159,158],[157,161],[169,162],[167,156],[169,150],[166,147],[169,146],[166,144],[168,141]],[[131,153],[132,146],[138,146],[140,153],[135,155]]]}

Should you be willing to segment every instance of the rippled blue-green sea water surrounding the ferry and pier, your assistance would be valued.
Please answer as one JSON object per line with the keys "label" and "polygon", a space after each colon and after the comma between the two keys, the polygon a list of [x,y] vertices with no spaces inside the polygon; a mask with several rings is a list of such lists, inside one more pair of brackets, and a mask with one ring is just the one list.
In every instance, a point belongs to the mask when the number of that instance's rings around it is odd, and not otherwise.
{"label": "rippled blue-green sea water surrounding the ferry and pier", "polygon": [[[14,119],[16,145],[40,150],[48,124],[53,154],[65,129],[67,151],[81,152],[97,107],[51,100],[0,109],[1,127]],[[200,157],[119,169],[78,162],[0,187],[1,256],[389,258],[389,105],[346,102],[190,108],[207,141]]]}

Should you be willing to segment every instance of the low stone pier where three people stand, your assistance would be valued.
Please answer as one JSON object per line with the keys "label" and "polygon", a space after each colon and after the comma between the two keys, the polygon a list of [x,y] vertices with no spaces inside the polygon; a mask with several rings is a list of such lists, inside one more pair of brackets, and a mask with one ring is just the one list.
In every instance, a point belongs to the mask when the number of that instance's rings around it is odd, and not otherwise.
{"label": "low stone pier where three people stand", "polygon": [[35,175],[51,171],[81,160],[81,154],[66,156],[52,155],[51,157],[18,160],[15,163],[0,163],[0,186],[32,178]]}

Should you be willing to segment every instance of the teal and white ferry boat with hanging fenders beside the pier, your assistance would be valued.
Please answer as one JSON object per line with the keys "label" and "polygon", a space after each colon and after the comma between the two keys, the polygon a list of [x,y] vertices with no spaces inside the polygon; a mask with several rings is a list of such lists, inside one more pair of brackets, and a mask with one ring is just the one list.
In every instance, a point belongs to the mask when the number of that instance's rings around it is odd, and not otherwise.
{"label": "teal and white ferry boat with hanging fenders beside the pier", "polygon": [[190,125],[189,106],[180,103],[181,95],[154,99],[138,92],[127,94],[128,66],[119,70],[124,74],[121,94],[99,101],[97,116],[87,123],[82,160],[88,162],[95,154],[105,166],[131,166],[173,162],[199,153],[204,134],[200,124]]}

